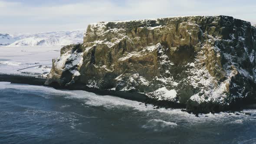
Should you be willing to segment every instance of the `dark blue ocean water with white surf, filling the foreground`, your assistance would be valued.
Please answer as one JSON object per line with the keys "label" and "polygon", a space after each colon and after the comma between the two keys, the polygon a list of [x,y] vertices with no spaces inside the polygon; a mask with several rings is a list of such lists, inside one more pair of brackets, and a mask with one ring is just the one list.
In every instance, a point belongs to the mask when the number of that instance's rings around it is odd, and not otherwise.
{"label": "dark blue ocean water with white surf, filling the foreground", "polygon": [[256,110],[156,109],[85,91],[0,82],[0,144],[256,144]]}

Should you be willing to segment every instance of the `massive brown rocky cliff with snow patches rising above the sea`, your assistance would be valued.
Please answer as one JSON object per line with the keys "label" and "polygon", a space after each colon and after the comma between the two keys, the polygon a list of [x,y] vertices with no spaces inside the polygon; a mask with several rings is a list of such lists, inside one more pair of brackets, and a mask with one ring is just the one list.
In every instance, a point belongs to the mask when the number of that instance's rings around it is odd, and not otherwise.
{"label": "massive brown rocky cliff with snow patches rising above the sea", "polygon": [[229,16],[101,22],[88,26],[83,44],[62,48],[46,84],[224,110],[255,95],[255,52],[256,28]]}

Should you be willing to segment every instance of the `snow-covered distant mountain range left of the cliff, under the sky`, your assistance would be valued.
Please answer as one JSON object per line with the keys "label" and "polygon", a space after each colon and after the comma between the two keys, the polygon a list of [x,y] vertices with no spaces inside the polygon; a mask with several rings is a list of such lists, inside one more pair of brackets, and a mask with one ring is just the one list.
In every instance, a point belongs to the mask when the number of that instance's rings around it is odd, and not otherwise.
{"label": "snow-covered distant mountain range left of the cliff, under the sky", "polygon": [[83,30],[69,30],[36,34],[0,34],[0,45],[6,46],[66,46],[82,43]]}

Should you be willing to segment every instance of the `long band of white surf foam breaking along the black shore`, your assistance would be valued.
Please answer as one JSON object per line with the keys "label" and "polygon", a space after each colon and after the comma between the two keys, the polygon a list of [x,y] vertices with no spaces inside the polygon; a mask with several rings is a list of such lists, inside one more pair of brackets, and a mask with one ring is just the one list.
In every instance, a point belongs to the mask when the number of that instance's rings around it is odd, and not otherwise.
{"label": "long band of white surf foam breaking along the black shore", "polygon": [[[189,114],[181,109],[154,109],[155,107],[153,105],[146,106],[138,101],[131,101],[111,95],[96,95],[95,93],[86,91],[62,91],[44,86],[18,85],[10,84],[10,82],[0,82],[0,90],[5,88],[15,88],[18,90],[25,90],[26,92],[42,92],[49,95],[52,94],[53,96],[64,96],[64,98],[70,99],[80,99],[85,105],[90,106],[103,106],[110,109],[132,108],[135,111],[143,112],[145,117],[150,116],[150,118],[157,118],[157,123],[164,123],[160,121],[165,121],[166,118],[171,118],[171,121],[176,124],[178,124],[180,121],[186,121],[188,124],[209,123],[210,121],[229,123],[231,121],[231,123],[234,124],[243,123],[245,121],[255,121],[254,118],[256,117],[256,110],[254,109],[246,109],[234,113],[220,112],[216,114],[201,114],[199,117],[195,117],[195,115]],[[245,113],[250,113],[251,115],[246,115]],[[150,123],[156,123],[156,119],[154,119],[154,122],[152,121]]]}

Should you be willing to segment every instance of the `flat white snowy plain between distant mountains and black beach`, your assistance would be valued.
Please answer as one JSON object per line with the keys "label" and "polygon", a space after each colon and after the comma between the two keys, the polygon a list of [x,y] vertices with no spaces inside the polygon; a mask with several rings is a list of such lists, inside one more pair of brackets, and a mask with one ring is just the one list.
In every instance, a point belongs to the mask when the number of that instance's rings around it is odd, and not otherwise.
{"label": "flat white snowy plain between distant mountains and black beach", "polygon": [[50,72],[62,46],[0,46],[0,74],[41,75]]}

